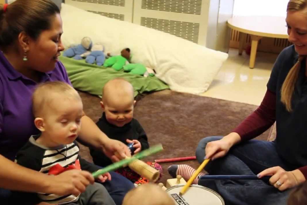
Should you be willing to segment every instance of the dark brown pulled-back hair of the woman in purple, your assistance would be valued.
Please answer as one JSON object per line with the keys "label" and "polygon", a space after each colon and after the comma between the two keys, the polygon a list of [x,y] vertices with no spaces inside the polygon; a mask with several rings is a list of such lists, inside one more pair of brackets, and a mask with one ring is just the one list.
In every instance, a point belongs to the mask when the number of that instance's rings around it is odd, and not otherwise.
{"label": "dark brown pulled-back hair of the woman in purple", "polygon": [[56,13],[60,10],[51,0],[16,0],[6,11],[1,8],[0,46],[13,44],[23,31],[36,40],[42,31],[50,29]]}

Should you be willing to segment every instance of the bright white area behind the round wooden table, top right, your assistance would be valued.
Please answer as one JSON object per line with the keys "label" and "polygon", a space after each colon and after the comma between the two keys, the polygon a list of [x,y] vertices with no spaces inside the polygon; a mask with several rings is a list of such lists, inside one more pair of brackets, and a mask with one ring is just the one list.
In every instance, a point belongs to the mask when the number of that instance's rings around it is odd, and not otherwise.
{"label": "bright white area behind the round wooden table, top right", "polygon": [[286,16],[289,0],[234,0],[234,16]]}

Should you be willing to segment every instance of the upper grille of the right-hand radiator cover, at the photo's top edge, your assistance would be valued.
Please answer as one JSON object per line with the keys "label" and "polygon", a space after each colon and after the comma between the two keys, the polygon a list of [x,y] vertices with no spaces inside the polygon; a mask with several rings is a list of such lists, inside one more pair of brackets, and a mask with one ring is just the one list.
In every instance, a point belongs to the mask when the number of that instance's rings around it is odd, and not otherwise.
{"label": "upper grille of the right-hand radiator cover, at the photo's top edge", "polygon": [[142,9],[201,15],[202,0],[142,0]]}

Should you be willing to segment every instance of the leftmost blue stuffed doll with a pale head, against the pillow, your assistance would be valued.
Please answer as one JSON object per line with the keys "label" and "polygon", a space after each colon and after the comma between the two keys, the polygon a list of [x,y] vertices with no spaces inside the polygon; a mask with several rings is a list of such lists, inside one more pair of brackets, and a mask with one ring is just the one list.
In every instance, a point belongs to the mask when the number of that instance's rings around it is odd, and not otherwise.
{"label": "leftmost blue stuffed doll with a pale head, against the pillow", "polygon": [[92,48],[91,38],[84,37],[81,40],[81,44],[67,49],[66,51],[63,52],[63,56],[73,57],[76,60],[80,60],[82,59],[81,54],[91,50],[91,48]]}

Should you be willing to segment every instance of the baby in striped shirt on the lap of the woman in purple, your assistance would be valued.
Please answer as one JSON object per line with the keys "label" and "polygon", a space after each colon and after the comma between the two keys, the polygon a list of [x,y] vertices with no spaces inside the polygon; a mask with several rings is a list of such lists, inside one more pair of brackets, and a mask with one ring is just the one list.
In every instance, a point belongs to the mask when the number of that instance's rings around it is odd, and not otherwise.
{"label": "baby in striped shirt on the lap of the woman in purple", "polygon": [[[42,173],[57,175],[78,169],[96,172],[101,169],[82,159],[76,138],[80,133],[83,105],[78,92],[67,83],[49,81],[39,84],[33,93],[34,125],[40,131],[32,135],[19,150],[15,161]],[[98,177],[98,182],[111,180],[109,173]],[[100,183],[86,187],[79,196],[58,196],[53,193],[14,193],[19,204],[107,204],[115,202]],[[12,203],[12,204],[16,204]]]}

